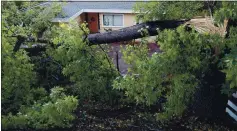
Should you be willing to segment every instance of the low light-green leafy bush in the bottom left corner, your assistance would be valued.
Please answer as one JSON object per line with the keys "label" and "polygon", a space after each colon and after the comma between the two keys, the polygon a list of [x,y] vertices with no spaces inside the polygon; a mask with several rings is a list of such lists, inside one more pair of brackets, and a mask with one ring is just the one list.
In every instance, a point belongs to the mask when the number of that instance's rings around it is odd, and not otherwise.
{"label": "low light-green leafy bush in the bottom left corner", "polygon": [[70,127],[74,116],[71,114],[78,105],[74,96],[66,96],[64,89],[52,88],[47,102],[37,102],[30,107],[22,107],[17,115],[2,116],[3,129],[48,129],[50,127]]}

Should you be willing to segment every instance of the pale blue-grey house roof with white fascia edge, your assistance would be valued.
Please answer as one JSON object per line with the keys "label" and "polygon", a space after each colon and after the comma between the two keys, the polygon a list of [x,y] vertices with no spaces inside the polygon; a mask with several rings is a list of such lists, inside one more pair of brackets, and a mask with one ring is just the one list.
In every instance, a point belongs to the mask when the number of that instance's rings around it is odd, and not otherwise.
{"label": "pale blue-grey house roof with white fascia edge", "polygon": [[62,13],[52,20],[52,22],[69,22],[83,12],[107,12],[107,13],[132,13],[135,1],[130,2],[67,2],[62,6]]}

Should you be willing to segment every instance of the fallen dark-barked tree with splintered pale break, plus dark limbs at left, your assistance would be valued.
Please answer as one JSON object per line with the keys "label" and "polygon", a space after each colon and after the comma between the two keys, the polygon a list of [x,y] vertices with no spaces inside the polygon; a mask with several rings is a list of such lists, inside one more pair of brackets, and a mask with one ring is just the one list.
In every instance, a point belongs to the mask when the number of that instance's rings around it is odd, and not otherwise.
{"label": "fallen dark-barked tree with splintered pale break, plus dark limbs at left", "polygon": [[[85,34],[84,41],[88,40],[88,45],[90,46],[99,44],[110,44],[114,42],[123,42],[144,37],[144,35],[141,33],[142,29],[146,29],[148,33],[146,36],[155,36],[158,34],[158,30],[162,31],[164,29],[175,29],[180,25],[193,26],[195,30],[200,33],[204,32],[218,33],[222,36],[225,36],[225,34],[228,32],[226,30],[228,21],[224,22],[223,27],[216,27],[212,23],[210,18],[196,18],[196,19],[194,18],[190,20],[158,20],[158,21],[145,22],[130,27],[125,27],[119,30],[113,30],[104,33],[95,33],[88,35]],[[14,51],[17,51],[22,43],[24,43],[25,41],[27,42],[27,38],[23,37],[19,38],[21,39],[16,42]],[[33,41],[38,43],[49,43],[49,44],[52,43],[48,40],[43,40],[40,38]]]}

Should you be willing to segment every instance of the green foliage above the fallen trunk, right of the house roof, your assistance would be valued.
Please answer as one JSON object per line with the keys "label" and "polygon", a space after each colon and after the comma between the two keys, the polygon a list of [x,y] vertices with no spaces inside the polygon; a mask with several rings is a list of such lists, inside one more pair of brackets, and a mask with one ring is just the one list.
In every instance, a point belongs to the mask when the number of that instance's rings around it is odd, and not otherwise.
{"label": "green foliage above the fallen trunk, right of the house roof", "polygon": [[[140,2],[134,7],[139,12],[137,20],[177,20],[189,19],[201,13],[204,2]],[[203,10],[201,10],[203,11]]]}

